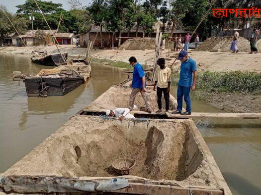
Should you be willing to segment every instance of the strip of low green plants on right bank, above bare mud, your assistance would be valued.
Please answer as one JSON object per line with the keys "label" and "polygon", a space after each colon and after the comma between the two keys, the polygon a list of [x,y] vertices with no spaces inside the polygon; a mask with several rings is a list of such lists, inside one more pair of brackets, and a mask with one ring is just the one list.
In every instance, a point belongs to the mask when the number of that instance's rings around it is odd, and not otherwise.
{"label": "strip of low green plants on right bank, above bare mud", "polygon": [[[174,77],[173,81],[177,83]],[[257,92],[261,91],[261,73],[248,71],[198,72],[196,88],[218,92]]]}

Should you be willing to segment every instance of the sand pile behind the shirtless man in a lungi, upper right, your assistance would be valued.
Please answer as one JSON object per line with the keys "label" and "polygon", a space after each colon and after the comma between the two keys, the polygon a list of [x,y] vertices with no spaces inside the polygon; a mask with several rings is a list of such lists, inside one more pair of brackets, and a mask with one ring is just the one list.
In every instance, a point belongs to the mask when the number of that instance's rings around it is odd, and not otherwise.
{"label": "sand pile behind the shirtless man in a lungi, upper right", "polygon": [[[210,49],[221,49],[221,51],[230,51],[233,37],[210,37],[204,41],[195,51],[210,51]],[[250,42],[244,37],[238,41],[239,51],[250,51]]]}

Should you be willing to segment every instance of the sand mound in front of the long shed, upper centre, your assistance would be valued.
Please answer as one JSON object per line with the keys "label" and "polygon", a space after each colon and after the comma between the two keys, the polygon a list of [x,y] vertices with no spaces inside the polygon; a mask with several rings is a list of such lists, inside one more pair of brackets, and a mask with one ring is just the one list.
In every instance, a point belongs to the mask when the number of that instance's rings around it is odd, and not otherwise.
{"label": "sand mound in front of the long shed, upper centre", "polygon": [[[172,48],[173,42],[166,41],[165,49]],[[120,50],[141,50],[141,49],[155,49],[155,38],[135,38],[125,41],[120,47]]]}

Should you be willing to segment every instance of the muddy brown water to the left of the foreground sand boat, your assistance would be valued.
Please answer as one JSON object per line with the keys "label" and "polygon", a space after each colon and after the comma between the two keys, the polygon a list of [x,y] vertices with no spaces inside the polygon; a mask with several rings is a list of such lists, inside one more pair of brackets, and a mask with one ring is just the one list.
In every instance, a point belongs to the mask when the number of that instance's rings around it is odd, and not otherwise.
{"label": "muddy brown water to the left of the foreground sand boat", "polygon": [[87,84],[58,97],[27,97],[24,83],[12,81],[13,71],[36,74],[52,68],[31,63],[28,55],[0,53],[0,173],[39,145],[74,114],[111,85],[126,79],[116,68],[92,64]]}

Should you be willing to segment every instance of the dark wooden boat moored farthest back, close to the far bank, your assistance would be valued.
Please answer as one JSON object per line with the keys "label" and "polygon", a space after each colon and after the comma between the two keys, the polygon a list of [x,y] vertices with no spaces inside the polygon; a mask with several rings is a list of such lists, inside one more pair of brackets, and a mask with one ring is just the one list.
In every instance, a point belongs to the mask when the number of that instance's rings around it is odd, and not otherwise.
{"label": "dark wooden boat moored farthest back, close to the far bank", "polygon": [[[64,56],[67,59],[68,54],[65,53]],[[31,60],[33,63],[46,65],[46,66],[60,66],[60,65],[66,64],[64,57],[60,53],[59,54],[40,55],[40,56],[33,55],[31,57]]]}

